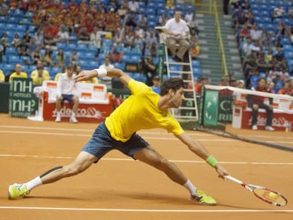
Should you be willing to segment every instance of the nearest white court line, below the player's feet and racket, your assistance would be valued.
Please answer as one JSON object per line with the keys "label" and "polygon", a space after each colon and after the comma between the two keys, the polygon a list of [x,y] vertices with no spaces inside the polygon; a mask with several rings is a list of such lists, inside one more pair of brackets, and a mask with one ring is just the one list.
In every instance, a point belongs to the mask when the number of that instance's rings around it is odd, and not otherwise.
{"label": "nearest white court line, below the player's feet and racket", "polygon": [[290,209],[98,209],[98,208],[60,208],[60,207],[0,207],[0,209],[38,209],[62,211],[96,211],[96,212],[293,212]]}

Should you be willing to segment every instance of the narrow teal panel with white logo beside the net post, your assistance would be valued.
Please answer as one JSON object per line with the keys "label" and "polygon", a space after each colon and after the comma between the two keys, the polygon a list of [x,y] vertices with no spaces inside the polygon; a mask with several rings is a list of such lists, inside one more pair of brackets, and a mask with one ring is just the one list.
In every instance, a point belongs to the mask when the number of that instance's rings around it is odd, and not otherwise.
{"label": "narrow teal panel with white logo beside the net post", "polygon": [[218,91],[206,91],[203,112],[204,125],[217,125],[218,121]]}

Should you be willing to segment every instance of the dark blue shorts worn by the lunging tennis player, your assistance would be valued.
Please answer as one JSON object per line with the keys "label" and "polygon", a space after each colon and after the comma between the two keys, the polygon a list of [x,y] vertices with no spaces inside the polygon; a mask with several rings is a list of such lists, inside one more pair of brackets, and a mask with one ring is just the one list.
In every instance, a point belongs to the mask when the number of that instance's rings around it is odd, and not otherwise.
{"label": "dark blue shorts worn by the lunging tennis player", "polygon": [[[111,137],[105,123],[102,122],[93,132],[93,136],[88,141],[82,151],[86,151],[89,154],[93,154],[98,158],[102,158],[105,154],[112,150],[118,150],[127,156],[134,158],[134,153],[149,146],[138,134],[132,134],[132,137],[126,142],[117,141]],[[134,158],[135,159],[135,158]],[[98,162],[98,160],[96,162]]]}

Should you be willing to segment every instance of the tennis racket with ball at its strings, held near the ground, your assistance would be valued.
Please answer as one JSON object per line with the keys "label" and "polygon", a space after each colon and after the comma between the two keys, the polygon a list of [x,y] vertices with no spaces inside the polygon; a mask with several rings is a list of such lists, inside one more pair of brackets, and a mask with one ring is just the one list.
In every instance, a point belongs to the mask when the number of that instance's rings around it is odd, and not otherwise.
{"label": "tennis racket with ball at its strings, held near the ground", "polygon": [[230,175],[226,175],[225,178],[227,180],[231,180],[234,183],[242,185],[246,188],[246,190],[253,192],[254,195],[258,197],[258,199],[261,199],[264,202],[268,202],[278,207],[285,207],[285,205],[288,202],[284,195],[282,195],[280,192],[276,192],[275,190],[270,190],[267,187],[263,187],[260,185],[251,185],[243,183],[241,180],[237,180],[236,178],[231,177]]}

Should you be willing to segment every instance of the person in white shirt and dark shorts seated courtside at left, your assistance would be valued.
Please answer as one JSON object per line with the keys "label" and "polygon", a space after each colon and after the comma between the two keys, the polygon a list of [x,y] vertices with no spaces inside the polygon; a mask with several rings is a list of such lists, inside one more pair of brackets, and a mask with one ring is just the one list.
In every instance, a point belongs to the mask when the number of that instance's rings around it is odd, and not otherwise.
{"label": "person in white shirt and dark shorts seated courtside at left", "polygon": [[76,120],[76,110],[79,108],[79,98],[73,94],[73,88],[75,86],[74,77],[74,69],[72,66],[67,66],[66,72],[61,74],[57,83],[57,100],[56,100],[56,110],[57,117],[55,122],[61,122],[61,105],[67,100],[69,103],[73,104],[71,117],[69,122],[77,123]]}

